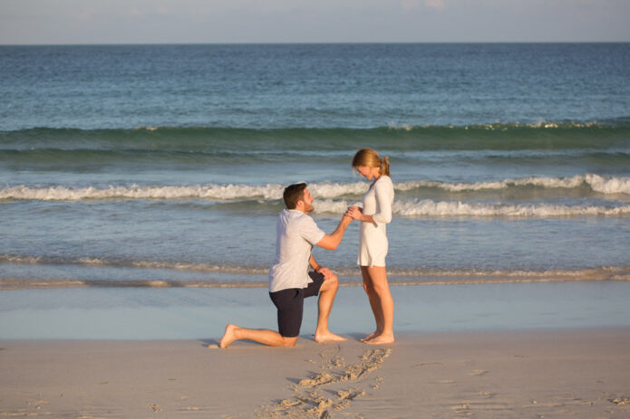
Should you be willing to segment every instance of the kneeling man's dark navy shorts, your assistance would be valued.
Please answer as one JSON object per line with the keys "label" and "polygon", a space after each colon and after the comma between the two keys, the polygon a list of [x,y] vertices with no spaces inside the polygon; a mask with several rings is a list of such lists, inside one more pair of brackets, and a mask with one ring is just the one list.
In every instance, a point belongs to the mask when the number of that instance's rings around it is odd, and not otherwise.
{"label": "kneeling man's dark navy shorts", "polygon": [[300,334],[304,299],[319,294],[319,289],[324,283],[324,275],[321,273],[308,272],[308,276],[313,282],[310,282],[306,288],[288,288],[269,292],[269,297],[277,309],[278,331],[285,338],[296,338]]}

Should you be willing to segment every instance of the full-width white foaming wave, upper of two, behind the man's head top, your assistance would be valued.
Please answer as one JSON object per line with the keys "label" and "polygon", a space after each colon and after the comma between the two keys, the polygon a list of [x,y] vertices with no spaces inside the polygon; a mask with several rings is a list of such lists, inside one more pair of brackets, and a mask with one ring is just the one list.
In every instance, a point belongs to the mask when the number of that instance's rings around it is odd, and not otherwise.
{"label": "full-width white foaming wave, upper of two, behind the man's head top", "polygon": [[[368,185],[364,182],[309,184],[311,193],[319,199],[344,196],[359,198]],[[588,187],[605,195],[630,195],[630,177],[605,177],[594,174],[572,177],[523,177],[487,182],[449,183],[431,180],[399,182],[394,188],[401,192],[418,192],[423,188],[437,188],[451,193],[496,191],[509,188],[576,189]],[[5,186],[0,188],[0,200],[81,201],[111,199],[208,199],[218,201],[282,199],[283,185],[196,185],[196,186]],[[330,204],[326,204],[330,205]],[[400,214],[405,214],[401,210]]]}

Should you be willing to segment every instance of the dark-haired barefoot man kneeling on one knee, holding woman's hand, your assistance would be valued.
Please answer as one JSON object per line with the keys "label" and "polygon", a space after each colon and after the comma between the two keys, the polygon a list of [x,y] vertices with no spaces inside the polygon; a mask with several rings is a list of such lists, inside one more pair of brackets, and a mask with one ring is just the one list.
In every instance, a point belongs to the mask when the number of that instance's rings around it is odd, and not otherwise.
{"label": "dark-haired barefoot man kneeling on one knee, holding woman's hand", "polygon": [[[334,233],[328,235],[317,227],[308,213],[314,197],[306,184],[287,186],[283,194],[286,209],[277,217],[276,264],[269,270],[269,297],[276,305],[278,331],[245,329],[228,324],[220,348],[239,339],[254,340],[272,347],[293,347],[302,326],[304,299],[319,294],[315,341],[345,340],[328,329],[339,280],[328,268],[320,266],[311,254],[313,246],[335,250],[344,238],[353,218],[344,215]],[[309,271],[309,266],[314,271]]]}

